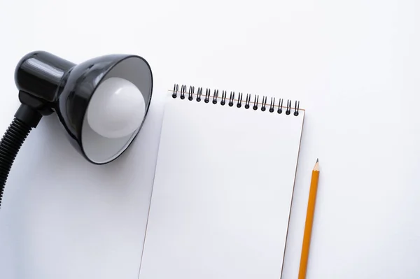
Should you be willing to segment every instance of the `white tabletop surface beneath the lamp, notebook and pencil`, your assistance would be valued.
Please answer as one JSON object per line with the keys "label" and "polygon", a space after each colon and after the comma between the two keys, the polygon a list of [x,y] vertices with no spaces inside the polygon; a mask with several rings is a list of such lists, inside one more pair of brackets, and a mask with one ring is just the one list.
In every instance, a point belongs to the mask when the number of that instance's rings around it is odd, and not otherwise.
{"label": "white tabletop surface beneath the lamp, notebook and pencil", "polygon": [[283,279],[296,278],[320,158],[307,278],[419,278],[420,2],[1,1],[0,130],[15,64],[133,52],[151,113],[130,152],[92,166],[55,117],[22,148],[0,210],[1,278],[137,278],[162,113],[173,83],[300,99],[307,109]]}

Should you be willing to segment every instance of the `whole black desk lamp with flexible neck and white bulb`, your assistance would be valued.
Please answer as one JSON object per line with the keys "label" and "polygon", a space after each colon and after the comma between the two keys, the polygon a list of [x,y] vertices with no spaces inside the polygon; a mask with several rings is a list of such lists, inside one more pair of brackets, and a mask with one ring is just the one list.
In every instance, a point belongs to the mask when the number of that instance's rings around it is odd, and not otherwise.
{"label": "whole black desk lamp with flexible neck and white bulb", "polygon": [[105,55],[73,64],[49,52],[31,52],[15,69],[20,107],[0,141],[0,206],[16,155],[43,115],[57,113],[69,141],[87,161],[119,157],[148,113],[153,76],[137,55]]}

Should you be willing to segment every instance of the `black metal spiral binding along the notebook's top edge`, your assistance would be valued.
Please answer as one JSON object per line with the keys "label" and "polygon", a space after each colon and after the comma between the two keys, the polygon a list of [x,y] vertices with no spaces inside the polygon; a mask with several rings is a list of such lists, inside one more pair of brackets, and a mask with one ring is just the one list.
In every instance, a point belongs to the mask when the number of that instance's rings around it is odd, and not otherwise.
{"label": "black metal spiral binding along the notebook's top edge", "polygon": [[[181,90],[179,89],[179,85],[174,85],[174,90],[172,92],[172,97],[175,99],[179,94],[179,97],[181,99],[186,98],[186,94],[188,96],[188,100],[193,101],[194,96],[195,101],[200,102],[202,100],[203,95],[203,88],[198,87],[197,93],[195,93],[195,87],[190,86],[188,92],[187,92],[187,86],[181,85]],[[237,108],[241,108],[244,102],[244,108],[249,109],[252,108],[253,110],[258,110],[258,108],[261,109],[261,111],[265,111],[268,108],[269,113],[276,113],[281,114],[283,113],[283,99],[279,99],[279,101],[276,101],[276,98],[271,97],[269,100],[269,103],[267,101],[267,96],[262,96],[261,103],[259,102],[260,96],[256,95],[253,98],[253,101],[251,101],[251,94],[246,94],[245,98],[241,92],[237,95],[237,99],[235,99],[235,92],[231,91],[228,99],[228,92],[226,90],[222,91],[221,96],[219,96],[219,90],[214,90],[213,95],[211,95],[211,90],[209,88],[206,89],[206,92],[204,94],[204,103],[209,103],[211,99],[211,103],[217,104],[218,100],[220,100],[221,106],[225,106],[226,103],[228,103],[228,106],[234,106],[236,102]],[[227,100],[228,99],[228,100]],[[243,100],[244,99],[244,100]],[[293,115],[297,116],[299,115],[299,106],[300,101],[295,101],[295,106],[293,106],[293,102],[291,100],[287,100],[286,103],[286,115],[290,115],[293,110]]]}

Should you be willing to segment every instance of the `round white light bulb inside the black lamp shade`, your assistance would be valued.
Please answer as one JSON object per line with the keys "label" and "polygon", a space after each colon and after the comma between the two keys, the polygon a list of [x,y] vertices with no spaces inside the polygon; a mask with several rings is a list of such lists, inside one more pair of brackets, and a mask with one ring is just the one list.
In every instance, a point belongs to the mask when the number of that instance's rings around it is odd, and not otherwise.
{"label": "round white light bulb inside the black lamp shade", "polygon": [[123,138],[140,127],[145,111],[143,94],[136,85],[123,78],[108,78],[90,99],[87,123],[101,136]]}

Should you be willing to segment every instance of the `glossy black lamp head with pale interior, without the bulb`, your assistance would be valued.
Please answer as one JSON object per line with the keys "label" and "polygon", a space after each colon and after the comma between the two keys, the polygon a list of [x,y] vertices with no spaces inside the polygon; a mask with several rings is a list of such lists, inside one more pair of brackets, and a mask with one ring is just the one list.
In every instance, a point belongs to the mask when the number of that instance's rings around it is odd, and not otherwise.
{"label": "glossy black lamp head with pale interior, without the bulb", "polygon": [[70,142],[93,164],[106,164],[120,156],[144,122],[123,138],[105,138],[90,128],[86,119],[90,99],[108,78],[123,78],[140,90],[146,104],[146,117],[153,76],[148,62],[137,55],[106,55],[76,65],[48,52],[31,52],[20,60],[15,70],[20,101],[35,103],[43,115],[55,111]]}

